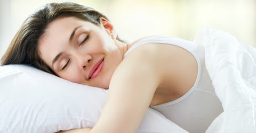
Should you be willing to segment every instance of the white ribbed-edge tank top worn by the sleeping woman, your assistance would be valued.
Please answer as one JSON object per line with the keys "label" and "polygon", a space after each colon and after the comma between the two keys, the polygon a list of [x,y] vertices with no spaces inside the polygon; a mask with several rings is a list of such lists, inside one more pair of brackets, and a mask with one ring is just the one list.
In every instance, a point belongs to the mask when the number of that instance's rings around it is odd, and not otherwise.
{"label": "white ribbed-edge tank top worn by the sleeping woman", "polygon": [[193,87],[179,99],[151,108],[161,112],[167,119],[189,132],[205,132],[211,122],[223,112],[223,109],[221,102],[215,95],[211,78],[205,68],[204,46],[178,38],[155,36],[135,43],[127,50],[124,57],[134,48],[146,43],[179,46],[196,58],[198,73]]}

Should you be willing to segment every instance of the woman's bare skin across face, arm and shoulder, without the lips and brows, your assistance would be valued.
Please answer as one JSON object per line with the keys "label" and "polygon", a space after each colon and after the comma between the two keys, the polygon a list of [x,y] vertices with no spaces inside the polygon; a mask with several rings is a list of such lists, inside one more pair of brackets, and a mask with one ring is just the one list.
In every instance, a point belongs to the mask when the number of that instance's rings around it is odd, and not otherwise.
{"label": "woman's bare skin across face, arm and shoulder, without the lips and brows", "polygon": [[[69,41],[76,28],[73,41]],[[79,46],[88,34],[89,39]],[[178,99],[194,85],[197,63],[188,51],[148,43],[123,58],[134,43],[117,41],[114,26],[104,18],[100,26],[75,17],[62,17],[49,25],[39,45],[45,63],[71,82],[109,88],[97,124],[92,129],[65,132],[135,132],[150,105]],[[52,64],[59,53],[63,54]],[[89,79],[90,69],[103,58],[101,72]]]}

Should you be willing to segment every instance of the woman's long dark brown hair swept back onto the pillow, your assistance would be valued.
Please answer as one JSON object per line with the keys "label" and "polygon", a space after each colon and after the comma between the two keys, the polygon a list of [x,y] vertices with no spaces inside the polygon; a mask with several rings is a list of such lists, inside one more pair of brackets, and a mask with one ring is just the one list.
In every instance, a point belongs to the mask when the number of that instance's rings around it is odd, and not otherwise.
{"label": "woman's long dark brown hair swept back onto the pillow", "polygon": [[[39,56],[38,43],[47,26],[63,16],[75,16],[78,19],[100,25],[100,17],[108,18],[91,7],[76,3],[49,3],[31,14],[15,34],[10,46],[2,57],[2,65],[27,64],[56,75]],[[119,41],[121,39],[116,38]]]}

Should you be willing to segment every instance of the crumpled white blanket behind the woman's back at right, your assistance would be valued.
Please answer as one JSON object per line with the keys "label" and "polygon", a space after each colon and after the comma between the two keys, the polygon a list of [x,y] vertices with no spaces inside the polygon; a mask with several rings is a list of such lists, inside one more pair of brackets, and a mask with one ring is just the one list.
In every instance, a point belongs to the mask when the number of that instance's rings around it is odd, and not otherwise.
{"label": "crumpled white blanket behind the woman's back at right", "polygon": [[205,64],[223,112],[206,132],[256,132],[256,49],[230,34],[204,28]]}

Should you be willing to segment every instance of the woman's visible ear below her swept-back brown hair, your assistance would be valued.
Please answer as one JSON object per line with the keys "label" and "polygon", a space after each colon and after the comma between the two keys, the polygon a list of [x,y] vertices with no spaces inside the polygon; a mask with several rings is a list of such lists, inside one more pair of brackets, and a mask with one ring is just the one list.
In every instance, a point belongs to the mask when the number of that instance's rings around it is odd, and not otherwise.
{"label": "woman's visible ear below her swept-back brown hair", "polygon": [[111,36],[113,40],[116,39],[116,30],[114,29],[113,24],[111,24],[107,19],[104,17],[100,17],[100,24],[103,26],[103,28],[107,31],[107,33]]}

